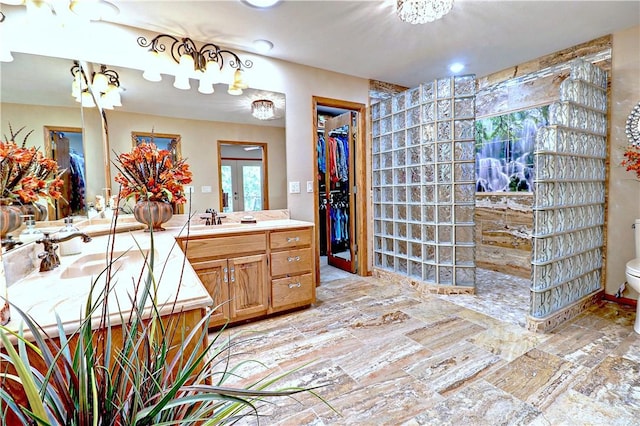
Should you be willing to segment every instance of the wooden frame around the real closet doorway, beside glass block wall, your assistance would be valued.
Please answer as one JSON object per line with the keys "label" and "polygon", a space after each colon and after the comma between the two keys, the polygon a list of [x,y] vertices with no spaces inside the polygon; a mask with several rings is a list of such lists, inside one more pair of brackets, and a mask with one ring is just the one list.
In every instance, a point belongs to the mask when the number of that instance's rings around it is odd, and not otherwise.
{"label": "wooden frame around the real closet doorway, beside glass block wall", "polygon": [[[356,274],[360,276],[371,275],[371,268],[369,265],[369,244],[367,241],[368,221],[367,221],[367,204],[369,202],[369,185],[367,182],[367,128],[366,128],[366,113],[367,106],[365,104],[344,101],[340,99],[325,98],[321,96],[311,97],[311,110],[312,110],[312,123],[313,123],[313,168],[314,174],[318,170],[318,152],[316,150],[316,142],[318,139],[318,106],[325,106],[329,108],[340,108],[355,111],[358,113],[358,129],[355,140],[355,179],[354,183],[357,188],[355,209],[357,212],[355,221],[355,234],[356,234],[356,256],[357,266]],[[320,203],[318,201],[318,179],[313,180],[313,217],[315,223],[316,234],[316,280],[320,283]]]}

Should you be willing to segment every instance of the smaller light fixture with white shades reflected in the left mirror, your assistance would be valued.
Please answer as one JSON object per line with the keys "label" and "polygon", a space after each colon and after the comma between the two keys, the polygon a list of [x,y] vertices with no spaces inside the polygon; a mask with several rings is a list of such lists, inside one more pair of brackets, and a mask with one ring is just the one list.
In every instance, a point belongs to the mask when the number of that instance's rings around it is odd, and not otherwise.
{"label": "smaller light fixture with white shades reflected in the left mirror", "polygon": [[[86,74],[82,70],[78,61],[73,62],[71,67],[73,83],[71,85],[71,95],[80,102],[83,107],[92,108],[96,106],[94,97],[89,92],[89,84]],[[100,65],[100,70],[91,76],[91,89],[94,94],[99,93],[99,103],[103,109],[113,109],[122,106],[120,97],[120,76],[114,70],[108,69],[106,65]]]}

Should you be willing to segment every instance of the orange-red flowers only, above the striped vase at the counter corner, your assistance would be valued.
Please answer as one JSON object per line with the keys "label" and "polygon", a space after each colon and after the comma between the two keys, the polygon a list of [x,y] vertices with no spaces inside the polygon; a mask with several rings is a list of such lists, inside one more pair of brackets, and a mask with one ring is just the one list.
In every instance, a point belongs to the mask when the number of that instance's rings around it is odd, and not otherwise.
{"label": "orange-red flowers only, above the striped vase at the counter corner", "polygon": [[142,142],[131,152],[118,155],[114,162],[120,198],[138,196],[139,201],[164,201],[183,204],[184,185],[191,183],[191,171],[185,160],[173,161],[171,152],[154,143]]}

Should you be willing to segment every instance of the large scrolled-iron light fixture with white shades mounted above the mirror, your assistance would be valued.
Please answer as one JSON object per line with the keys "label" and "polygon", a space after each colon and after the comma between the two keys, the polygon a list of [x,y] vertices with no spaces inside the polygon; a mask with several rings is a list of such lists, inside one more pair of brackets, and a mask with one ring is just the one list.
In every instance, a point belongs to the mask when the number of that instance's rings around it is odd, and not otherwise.
{"label": "large scrolled-iron light fixture with white shades mounted above the mirror", "polygon": [[[168,43],[165,45],[164,39]],[[188,37],[177,38],[169,34],[160,34],[151,40],[138,37],[140,47],[148,47],[150,58],[147,69],[142,76],[149,81],[160,81],[162,76],[157,69],[160,55],[167,51],[173,61],[178,64],[175,72],[174,87],[188,90],[190,78],[200,80],[198,91],[201,93],[213,93],[213,85],[228,83],[228,93],[241,95],[242,90],[249,87],[244,81],[242,72],[244,68],[251,68],[253,61],[242,61],[240,57],[228,49],[223,49],[214,43],[206,43],[198,48],[193,40]],[[233,71],[235,70],[235,71]],[[224,81],[227,71],[233,71],[232,79]]]}

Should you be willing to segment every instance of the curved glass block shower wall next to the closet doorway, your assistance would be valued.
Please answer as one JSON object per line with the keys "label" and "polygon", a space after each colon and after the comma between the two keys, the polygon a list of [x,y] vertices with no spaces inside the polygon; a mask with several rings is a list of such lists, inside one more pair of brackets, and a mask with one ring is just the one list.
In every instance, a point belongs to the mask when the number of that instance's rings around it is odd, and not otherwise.
{"label": "curved glass block shower wall next to the closet doorway", "polygon": [[475,285],[475,76],[372,105],[374,265]]}

